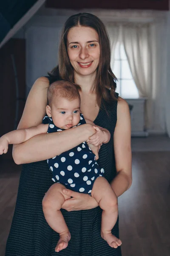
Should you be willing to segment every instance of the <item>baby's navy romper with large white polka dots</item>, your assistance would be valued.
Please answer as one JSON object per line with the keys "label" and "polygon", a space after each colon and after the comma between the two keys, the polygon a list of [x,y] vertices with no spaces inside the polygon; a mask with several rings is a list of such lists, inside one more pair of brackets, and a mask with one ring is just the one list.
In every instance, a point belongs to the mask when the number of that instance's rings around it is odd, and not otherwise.
{"label": "baby's navy romper with large white polka dots", "polygon": [[[48,116],[44,117],[43,123],[49,124],[48,133],[62,131],[54,125],[52,118]],[[78,125],[85,123],[83,115],[80,114]],[[88,144],[83,142],[69,151],[48,159],[52,180],[62,183],[68,189],[91,195],[94,181],[104,173],[104,169],[99,167],[95,157]]]}

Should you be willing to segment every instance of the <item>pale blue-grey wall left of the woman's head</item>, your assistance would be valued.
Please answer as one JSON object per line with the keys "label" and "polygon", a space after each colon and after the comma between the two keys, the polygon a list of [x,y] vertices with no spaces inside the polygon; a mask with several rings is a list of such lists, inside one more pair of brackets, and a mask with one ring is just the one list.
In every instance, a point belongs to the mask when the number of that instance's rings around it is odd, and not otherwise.
{"label": "pale blue-grey wall left of the woman's head", "polygon": [[58,61],[60,32],[67,17],[35,16],[26,26],[27,94],[34,81],[47,76]]}

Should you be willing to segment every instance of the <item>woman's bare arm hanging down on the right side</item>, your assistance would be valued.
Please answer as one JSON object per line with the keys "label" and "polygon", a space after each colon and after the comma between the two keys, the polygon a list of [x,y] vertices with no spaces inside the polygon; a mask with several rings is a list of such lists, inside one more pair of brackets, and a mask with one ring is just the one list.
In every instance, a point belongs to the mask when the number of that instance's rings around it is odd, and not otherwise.
{"label": "woman's bare arm hanging down on the right side", "polygon": [[127,102],[120,97],[113,139],[117,175],[111,186],[118,197],[129,189],[132,183],[130,112]]}

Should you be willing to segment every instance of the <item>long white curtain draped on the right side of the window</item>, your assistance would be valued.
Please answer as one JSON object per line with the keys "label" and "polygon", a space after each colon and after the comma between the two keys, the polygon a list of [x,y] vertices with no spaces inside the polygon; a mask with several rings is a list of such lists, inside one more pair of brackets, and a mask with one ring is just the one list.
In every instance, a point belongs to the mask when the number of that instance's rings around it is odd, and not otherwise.
{"label": "long white curtain draped on the right side of the window", "polygon": [[[146,97],[145,125],[151,131],[165,131],[164,41],[161,23],[126,23],[122,40],[139,96]],[[162,47],[161,47],[162,45]]]}

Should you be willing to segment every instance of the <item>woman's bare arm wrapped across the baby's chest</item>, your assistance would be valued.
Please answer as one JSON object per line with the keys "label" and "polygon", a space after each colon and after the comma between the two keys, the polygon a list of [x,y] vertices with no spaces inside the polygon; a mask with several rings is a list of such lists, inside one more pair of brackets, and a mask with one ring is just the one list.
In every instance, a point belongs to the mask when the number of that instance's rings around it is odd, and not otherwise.
{"label": "woman's bare arm wrapped across the baby's chest", "polygon": [[[37,79],[31,88],[18,129],[29,128],[42,123],[47,105],[49,81],[45,77]],[[46,160],[79,145],[96,131],[90,124],[74,129],[50,134],[40,134],[24,143],[13,146],[15,163],[31,163]]]}

